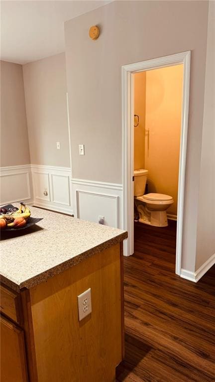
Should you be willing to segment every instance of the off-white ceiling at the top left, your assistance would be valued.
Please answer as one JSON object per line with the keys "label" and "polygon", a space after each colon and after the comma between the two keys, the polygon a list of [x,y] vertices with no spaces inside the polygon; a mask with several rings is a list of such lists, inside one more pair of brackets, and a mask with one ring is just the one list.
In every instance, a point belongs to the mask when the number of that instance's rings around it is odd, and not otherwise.
{"label": "off-white ceiling at the top left", "polygon": [[64,52],[64,22],[108,2],[1,1],[0,59],[25,64]]}

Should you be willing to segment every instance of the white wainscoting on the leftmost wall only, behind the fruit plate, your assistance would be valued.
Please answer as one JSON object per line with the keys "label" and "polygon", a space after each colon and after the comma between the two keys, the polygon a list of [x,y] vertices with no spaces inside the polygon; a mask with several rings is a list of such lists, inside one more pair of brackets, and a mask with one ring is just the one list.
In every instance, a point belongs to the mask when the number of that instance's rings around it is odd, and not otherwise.
{"label": "white wainscoting on the leftmost wall only, behind the fruit plate", "polygon": [[0,205],[21,201],[33,202],[30,165],[0,167]]}

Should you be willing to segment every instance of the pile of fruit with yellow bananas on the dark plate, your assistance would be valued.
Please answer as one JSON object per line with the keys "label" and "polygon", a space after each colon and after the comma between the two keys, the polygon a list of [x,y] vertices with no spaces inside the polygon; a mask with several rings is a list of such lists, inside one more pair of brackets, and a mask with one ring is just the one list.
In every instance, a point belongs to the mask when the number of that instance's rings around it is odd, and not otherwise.
{"label": "pile of fruit with yellow bananas on the dark plate", "polygon": [[30,215],[31,212],[29,208],[24,203],[20,203],[20,207],[16,209],[16,211],[0,215],[0,229],[4,229],[5,227],[23,227],[27,223]]}

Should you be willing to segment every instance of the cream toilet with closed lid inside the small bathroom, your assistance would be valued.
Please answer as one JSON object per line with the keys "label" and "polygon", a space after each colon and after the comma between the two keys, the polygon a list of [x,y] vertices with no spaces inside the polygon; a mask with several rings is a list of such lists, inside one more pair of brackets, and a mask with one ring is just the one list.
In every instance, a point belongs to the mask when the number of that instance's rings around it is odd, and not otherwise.
{"label": "cream toilet with closed lid inside the small bathroom", "polygon": [[148,170],[134,170],[134,201],[139,222],[156,227],[167,227],[166,210],[174,203],[171,196],[158,193],[145,194]]}

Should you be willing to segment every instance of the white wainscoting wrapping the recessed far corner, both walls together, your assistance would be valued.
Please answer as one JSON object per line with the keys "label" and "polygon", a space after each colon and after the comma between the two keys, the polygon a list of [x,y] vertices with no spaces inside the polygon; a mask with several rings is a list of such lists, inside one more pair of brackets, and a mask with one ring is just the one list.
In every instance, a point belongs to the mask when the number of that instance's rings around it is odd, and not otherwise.
{"label": "white wainscoting wrapping the recessed far corner, both walls together", "polygon": [[33,164],[0,167],[0,181],[1,205],[23,201],[73,215],[70,167]]}

